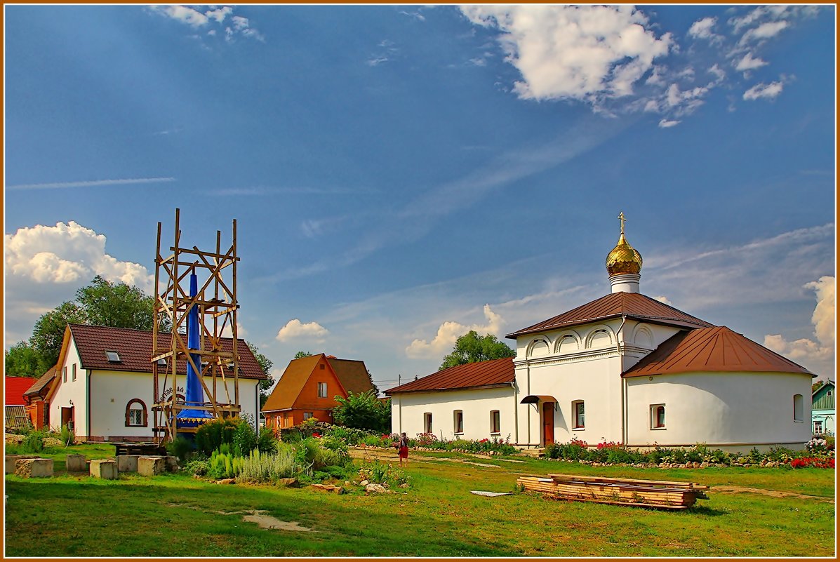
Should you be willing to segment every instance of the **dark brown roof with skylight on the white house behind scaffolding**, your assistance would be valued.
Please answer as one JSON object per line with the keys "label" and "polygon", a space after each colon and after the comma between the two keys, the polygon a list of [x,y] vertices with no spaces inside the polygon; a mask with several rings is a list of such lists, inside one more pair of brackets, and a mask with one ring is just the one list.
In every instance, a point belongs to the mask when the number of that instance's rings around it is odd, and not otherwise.
{"label": "dark brown roof with skylight on the white house behind scaffolding", "polygon": [[[152,333],[130,328],[109,328],[108,326],[87,326],[85,324],[67,324],[76,341],[76,349],[81,356],[82,369],[130,370],[132,372],[152,372]],[[164,348],[169,344],[170,334],[158,334],[158,344]],[[233,338],[222,338],[224,351],[234,350]],[[246,379],[265,379],[265,373],[257,363],[254,354],[239,339],[236,346],[239,353],[239,376]],[[108,361],[106,351],[116,351],[120,361]],[[186,374],[186,360],[178,361],[178,373]]]}

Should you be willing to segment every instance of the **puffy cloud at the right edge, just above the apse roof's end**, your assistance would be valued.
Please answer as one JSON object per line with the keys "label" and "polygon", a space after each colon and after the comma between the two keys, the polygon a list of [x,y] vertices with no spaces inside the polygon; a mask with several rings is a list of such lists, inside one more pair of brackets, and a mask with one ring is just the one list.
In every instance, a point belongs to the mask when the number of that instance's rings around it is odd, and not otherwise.
{"label": "puffy cloud at the right edge, just above the apse roof's end", "polygon": [[816,292],[816,307],[811,315],[814,339],[788,341],[781,334],[764,336],[764,346],[785,355],[798,363],[805,364],[816,375],[828,376],[834,372],[835,349],[835,279],[820,277],[805,285]]}

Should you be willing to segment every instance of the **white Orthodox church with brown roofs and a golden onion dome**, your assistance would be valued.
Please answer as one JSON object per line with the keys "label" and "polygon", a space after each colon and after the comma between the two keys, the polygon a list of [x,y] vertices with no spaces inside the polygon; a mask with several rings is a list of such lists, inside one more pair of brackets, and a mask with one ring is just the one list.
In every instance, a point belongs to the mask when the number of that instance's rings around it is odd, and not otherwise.
{"label": "white Orthodox church with brown roofs and a golden onion dome", "polygon": [[743,450],[811,438],[811,374],[726,326],[639,290],[642,256],[624,235],[606,256],[611,292],[508,334],[516,357],[440,370],[386,394],[395,432],[581,439]]}

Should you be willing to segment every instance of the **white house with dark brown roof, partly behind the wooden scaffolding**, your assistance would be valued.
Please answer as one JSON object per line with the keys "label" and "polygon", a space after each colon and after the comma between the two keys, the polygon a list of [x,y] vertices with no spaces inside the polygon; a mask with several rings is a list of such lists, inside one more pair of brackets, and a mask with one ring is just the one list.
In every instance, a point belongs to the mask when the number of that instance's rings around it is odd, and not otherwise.
{"label": "white house with dark brown roof, partly behind the wooden scaffolding", "polygon": [[[223,338],[225,344],[232,348],[233,340]],[[241,413],[249,414],[256,423],[258,383],[265,380],[265,373],[243,339],[239,339],[237,351]],[[88,441],[151,441],[155,435],[151,356],[151,332],[68,324],[55,380],[45,400],[50,426],[55,429],[71,423],[76,438]],[[181,381],[186,381],[185,364],[179,362],[178,391],[184,386]],[[234,396],[233,373],[228,378],[227,391],[217,380],[217,397]],[[212,377],[204,381],[213,388]],[[171,393],[171,381],[168,386],[160,383],[164,394]]]}

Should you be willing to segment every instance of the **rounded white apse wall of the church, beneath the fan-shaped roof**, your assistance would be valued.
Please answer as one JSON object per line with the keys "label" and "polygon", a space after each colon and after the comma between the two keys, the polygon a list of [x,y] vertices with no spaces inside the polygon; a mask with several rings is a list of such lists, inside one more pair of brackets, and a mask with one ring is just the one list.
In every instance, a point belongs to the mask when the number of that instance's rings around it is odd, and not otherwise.
{"label": "rounded white apse wall of the church, beneath the fan-shaped roof", "polygon": [[[794,395],[803,397],[794,421]],[[650,407],[665,405],[665,428]],[[697,443],[800,448],[811,438],[811,376],[794,373],[685,373],[627,379],[627,444]]]}

